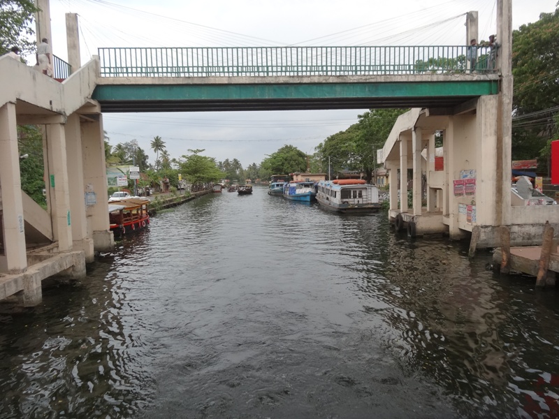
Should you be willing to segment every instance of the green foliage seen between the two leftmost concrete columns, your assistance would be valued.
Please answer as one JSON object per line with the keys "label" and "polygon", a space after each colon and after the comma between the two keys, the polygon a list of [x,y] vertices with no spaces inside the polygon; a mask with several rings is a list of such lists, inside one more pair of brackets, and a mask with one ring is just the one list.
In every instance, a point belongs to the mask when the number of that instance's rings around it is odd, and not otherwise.
{"label": "green foliage seen between the two leftmost concrete columns", "polygon": [[43,195],[45,188],[45,168],[43,163],[43,134],[34,125],[17,128],[20,155],[27,154],[27,159],[20,160],[22,190],[43,208],[47,203]]}

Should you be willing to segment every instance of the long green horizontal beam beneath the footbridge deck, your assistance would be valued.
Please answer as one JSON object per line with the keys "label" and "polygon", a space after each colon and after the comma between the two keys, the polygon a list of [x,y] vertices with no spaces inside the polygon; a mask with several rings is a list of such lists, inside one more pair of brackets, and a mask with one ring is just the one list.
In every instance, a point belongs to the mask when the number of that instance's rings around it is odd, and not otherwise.
{"label": "long green horizontal beam beneath the footbridge deck", "polygon": [[263,84],[100,84],[103,112],[411,108],[498,94],[496,80]]}

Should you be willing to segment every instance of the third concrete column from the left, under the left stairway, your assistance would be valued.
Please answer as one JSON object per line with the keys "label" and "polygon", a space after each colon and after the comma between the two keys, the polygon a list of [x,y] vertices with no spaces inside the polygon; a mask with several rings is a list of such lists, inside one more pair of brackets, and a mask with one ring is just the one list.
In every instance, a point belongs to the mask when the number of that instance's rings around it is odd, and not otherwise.
{"label": "third concrete column from the left, under the left stairway", "polygon": [[94,260],[93,240],[87,237],[85,192],[82,163],[80,116],[73,114],[66,123],[66,159],[68,161],[68,187],[72,214],[72,242],[74,250],[85,252],[85,261]]}

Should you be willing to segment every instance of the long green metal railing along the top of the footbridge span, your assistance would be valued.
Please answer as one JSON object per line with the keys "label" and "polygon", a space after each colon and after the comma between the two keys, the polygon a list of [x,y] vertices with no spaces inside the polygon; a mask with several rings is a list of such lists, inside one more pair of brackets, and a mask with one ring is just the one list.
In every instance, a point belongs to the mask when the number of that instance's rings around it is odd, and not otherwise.
{"label": "long green metal railing along the top of the footbridge span", "polygon": [[[101,77],[246,77],[495,73],[496,49],[390,47],[99,48]],[[471,53],[470,53],[471,52]],[[470,57],[475,59],[470,60]],[[470,61],[474,66],[468,63]],[[472,67],[472,68],[470,68]]]}

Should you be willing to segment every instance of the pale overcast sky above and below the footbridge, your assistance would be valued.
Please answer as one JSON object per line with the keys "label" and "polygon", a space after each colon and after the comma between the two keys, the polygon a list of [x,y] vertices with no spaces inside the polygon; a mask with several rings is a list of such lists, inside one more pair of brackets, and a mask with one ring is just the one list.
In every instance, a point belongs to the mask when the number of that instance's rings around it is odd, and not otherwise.
{"label": "pale overcast sky above and below the footbridge", "polygon": [[[557,0],[513,0],[513,27],[555,10]],[[78,13],[82,64],[98,47],[465,45],[465,13],[479,39],[496,32],[486,0],[50,0],[52,48],[66,59],[64,13]],[[110,144],[133,139],[150,156],[159,135],[171,157],[205,149],[217,161],[259,164],[284,145],[305,153],[365,110],[104,114]]]}

